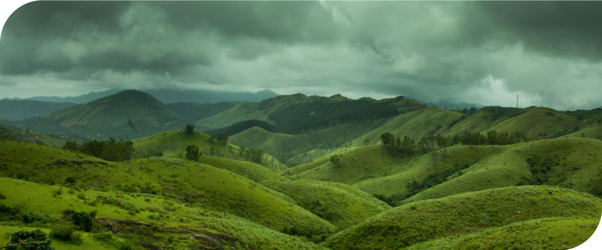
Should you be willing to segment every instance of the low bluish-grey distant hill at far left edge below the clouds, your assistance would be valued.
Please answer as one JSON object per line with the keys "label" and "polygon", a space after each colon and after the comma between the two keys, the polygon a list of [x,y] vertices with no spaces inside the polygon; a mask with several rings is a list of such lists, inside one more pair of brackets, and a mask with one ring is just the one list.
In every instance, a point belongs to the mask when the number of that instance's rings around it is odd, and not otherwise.
{"label": "low bluish-grey distant hill at far left edge below the clouds", "polygon": [[18,121],[48,115],[75,105],[75,103],[51,103],[33,100],[0,100],[0,119]]}

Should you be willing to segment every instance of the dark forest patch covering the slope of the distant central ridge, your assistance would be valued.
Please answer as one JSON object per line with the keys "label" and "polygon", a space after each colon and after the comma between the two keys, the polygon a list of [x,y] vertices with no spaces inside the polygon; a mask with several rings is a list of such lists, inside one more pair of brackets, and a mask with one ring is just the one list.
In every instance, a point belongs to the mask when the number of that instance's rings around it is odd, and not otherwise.
{"label": "dark forest patch covering the slope of the distant central ridge", "polygon": [[277,132],[294,134],[341,122],[377,120],[396,115],[399,115],[399,111],[388,103],[365,100],[311,101],[276,110],[270,113],[268,119],[274,121]]}

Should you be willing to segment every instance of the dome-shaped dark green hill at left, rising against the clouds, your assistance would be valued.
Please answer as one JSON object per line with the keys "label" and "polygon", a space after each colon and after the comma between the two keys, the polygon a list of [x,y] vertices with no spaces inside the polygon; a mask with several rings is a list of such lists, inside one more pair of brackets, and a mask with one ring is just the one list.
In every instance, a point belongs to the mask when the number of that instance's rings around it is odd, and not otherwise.
{"label": "dome-shaped dark green hill at left, rising against the clouds", "polygon": [[87,104],[58,110],[17,125],[53,134],[82,134],[90,138],[136,138],[184,128],[187,120],[140,91],[122,91]]}

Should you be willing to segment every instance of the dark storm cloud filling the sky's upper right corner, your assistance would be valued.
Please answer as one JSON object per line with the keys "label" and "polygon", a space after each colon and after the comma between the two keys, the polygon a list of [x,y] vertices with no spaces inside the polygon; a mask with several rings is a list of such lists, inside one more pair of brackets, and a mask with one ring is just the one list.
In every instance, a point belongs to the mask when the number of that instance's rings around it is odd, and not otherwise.
{"label": "dark storm cloud filling the sky's upper right corner", "polygon": [[602,59],[602,1],[473,0],[467,22],[482,34],[520,41],[529,50],[554,56]]}

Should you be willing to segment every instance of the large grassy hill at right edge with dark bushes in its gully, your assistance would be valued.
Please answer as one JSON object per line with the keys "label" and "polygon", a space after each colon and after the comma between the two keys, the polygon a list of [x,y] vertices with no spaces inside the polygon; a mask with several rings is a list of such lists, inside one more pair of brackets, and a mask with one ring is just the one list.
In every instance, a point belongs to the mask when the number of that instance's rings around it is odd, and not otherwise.
{"label": "large grassy hill at right edge with dark bushes in its gully", "polygon": [[[491,146],[488,146],[491,147]],[[452,176],[447,182],[420,192],[403,201],[410,203],[488,188],[515,186],[533,177],[527,158],[538,157],[551,162],[548,185],[559,185],[582,192],[597,193],[595,183],[602,174],[600,154],[602,141],[588,138],[557,138],[515,144],[504,152],[486,158]]]}

